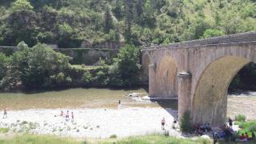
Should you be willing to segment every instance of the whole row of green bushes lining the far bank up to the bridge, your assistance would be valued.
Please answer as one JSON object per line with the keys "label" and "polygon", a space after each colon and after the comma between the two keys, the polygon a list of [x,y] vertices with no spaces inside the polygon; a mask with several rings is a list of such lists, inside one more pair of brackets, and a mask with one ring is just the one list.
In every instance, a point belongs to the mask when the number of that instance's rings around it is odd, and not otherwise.
{"label": "whole row of green bushes lining the far bank up to the bridge", "polygon": [[7,57],[0,53],[0,90],[50,89],[78,86],[138,86],[139,50],[124,46],[111,66],[71,65],[69,57],[38,43],[29,48],[25,42],[20,50]]}

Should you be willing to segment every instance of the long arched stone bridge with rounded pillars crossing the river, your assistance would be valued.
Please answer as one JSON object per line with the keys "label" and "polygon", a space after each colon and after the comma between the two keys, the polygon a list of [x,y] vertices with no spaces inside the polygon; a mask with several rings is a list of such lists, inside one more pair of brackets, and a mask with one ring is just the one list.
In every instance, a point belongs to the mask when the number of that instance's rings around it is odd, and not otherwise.
{"label": "long arched stone bridge with rounded pillars crossing the river", "polygon": [[178,117],[226,122],[227,90],[234,76],[256,62],[256,33],[232,34],[142,50],[142,72],[150,97],[178,98]]}

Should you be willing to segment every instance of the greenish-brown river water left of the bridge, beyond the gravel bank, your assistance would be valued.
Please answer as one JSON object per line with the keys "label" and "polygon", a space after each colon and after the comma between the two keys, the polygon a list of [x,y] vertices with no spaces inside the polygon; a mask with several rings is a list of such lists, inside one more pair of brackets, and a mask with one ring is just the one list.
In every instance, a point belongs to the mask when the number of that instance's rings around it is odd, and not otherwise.
{"label": "greenish-brown river water left of the bridge, beyond the gravel bank", "polygon": [[36,93],[0,93],[0,109],[55,109],[55,108],[116,108],[118,100],[123,106],[170,106],[177,109],[177,101],[135,102],[127,95],[140,93],[146,96],[146,90],[110,90],[110,89],[69,89]]}

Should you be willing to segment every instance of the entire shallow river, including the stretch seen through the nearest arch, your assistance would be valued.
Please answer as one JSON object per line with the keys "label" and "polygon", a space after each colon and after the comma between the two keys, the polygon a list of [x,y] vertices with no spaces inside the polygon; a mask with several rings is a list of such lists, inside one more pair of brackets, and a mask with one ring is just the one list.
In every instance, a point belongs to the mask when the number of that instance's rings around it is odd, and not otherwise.
{"label": "entire shallow river, including the stretch seen through the nearest arch", "polygon": [[[138,107],[170,107],[178,109],[177,100],[159,102],[138,102],[127,95],[140,93],[146,96],[146,90],[111,90],[111,89],[69,89],[37,93],[0,93],[0,109],[56,109],[56,108],[116,108],[118,100],[122,106]],[[249,119],[256,119],[256,92],[230,94],[228,97],[227,115],[234,118],[237,114],[245,114]]]}

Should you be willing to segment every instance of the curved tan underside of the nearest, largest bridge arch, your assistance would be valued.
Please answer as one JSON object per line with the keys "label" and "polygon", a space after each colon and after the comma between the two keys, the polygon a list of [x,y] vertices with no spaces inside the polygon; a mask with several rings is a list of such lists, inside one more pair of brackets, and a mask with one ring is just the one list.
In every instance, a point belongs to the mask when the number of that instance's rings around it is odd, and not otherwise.
{"label": "curved tan underside of the nearest, largest bridge arch", "polygon": [[247,58],[227,55],[206,66],[192,97],[193,123],[225,123],[228,87],[238,71],[249,62]]}

